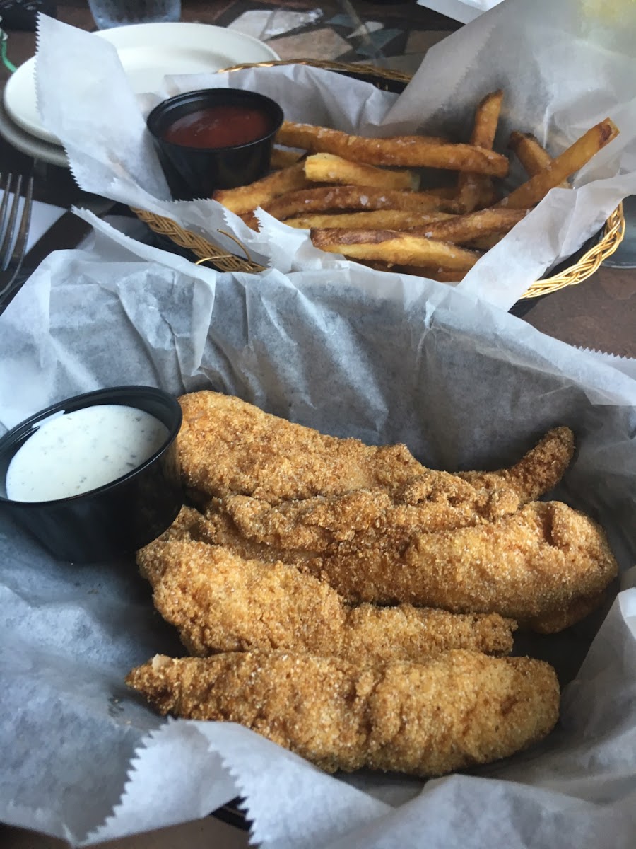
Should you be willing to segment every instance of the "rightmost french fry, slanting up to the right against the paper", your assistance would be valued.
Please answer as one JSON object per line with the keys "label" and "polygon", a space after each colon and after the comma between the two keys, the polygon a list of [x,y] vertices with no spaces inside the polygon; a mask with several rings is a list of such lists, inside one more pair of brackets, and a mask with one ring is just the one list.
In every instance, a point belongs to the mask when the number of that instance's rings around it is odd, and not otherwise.
{"label": "rightmost french fry, slanting up to the right against the paper", "polygon": [[575,171],[582,168],[586,162],[592,159],[594,154],[603,149],[618,135],[618,128],[613,121],[605,118],[588,132],[578,138],[568,149],[557,156],[542,171],[530,177],[527,183],[523,183],[514,192],[499,202],[500,206],[508,209],[529,209],[538,204],[548,194],[550,188],[555,188],[570,177]]}

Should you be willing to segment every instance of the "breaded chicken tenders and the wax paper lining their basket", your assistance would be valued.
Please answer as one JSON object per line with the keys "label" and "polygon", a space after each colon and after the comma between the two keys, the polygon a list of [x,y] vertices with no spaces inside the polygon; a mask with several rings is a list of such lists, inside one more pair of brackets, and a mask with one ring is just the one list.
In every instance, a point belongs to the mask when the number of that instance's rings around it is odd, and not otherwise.
{"label": "breaded chicken tenders and the wax paper lining their basket", "polygon": [[120,556],[75,524],[67,562],[0,497],[0,819],[84,846],[233,801],[272,849],[628,845],[633,361],[438,281],[219,273],[96,226],[3,313],[4,468],[36,411],[158,387],[170,476],[114,530],[170,513]]}

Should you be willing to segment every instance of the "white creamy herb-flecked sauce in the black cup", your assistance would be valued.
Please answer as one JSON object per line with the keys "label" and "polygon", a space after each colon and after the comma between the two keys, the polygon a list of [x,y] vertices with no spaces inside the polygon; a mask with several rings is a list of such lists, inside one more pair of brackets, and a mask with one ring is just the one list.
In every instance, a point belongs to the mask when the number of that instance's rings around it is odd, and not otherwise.
{"label": "white creamy herb-flecked sauce in the black cup", "polygon": [[45,419],[8,465],[12,501],[56,501],[116,481],[137,469],[168,438],[150,413],[97,404]]}

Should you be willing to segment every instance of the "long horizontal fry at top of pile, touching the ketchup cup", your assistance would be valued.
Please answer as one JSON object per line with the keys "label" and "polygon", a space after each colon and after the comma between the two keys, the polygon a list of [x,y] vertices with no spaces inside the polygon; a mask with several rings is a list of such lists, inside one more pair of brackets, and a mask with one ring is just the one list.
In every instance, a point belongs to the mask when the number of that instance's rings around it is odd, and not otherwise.
{"label": "long horizontal fry at top of pile, touching the ketchup cup", "polygon": [[493,150],[470,144],[451,144],[430,136],[364,138],[313,124],[283,121],[276,135],[279,144],[303,148],[310,154],[327,153],[366,165],[445,168],[505,177],[508,160]]}

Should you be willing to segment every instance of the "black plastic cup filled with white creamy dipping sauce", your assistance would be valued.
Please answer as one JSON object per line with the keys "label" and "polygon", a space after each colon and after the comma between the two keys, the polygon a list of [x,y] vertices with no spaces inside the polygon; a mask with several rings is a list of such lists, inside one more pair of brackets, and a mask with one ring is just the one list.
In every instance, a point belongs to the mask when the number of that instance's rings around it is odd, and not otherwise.
{"label": "black plastic cup filled with white creamy dipping sauce", "polygon": [[159,537],[183,501],[181,407],[151,386],[53,404],[0,439],[0,514],[53,557],[97,563]]}

